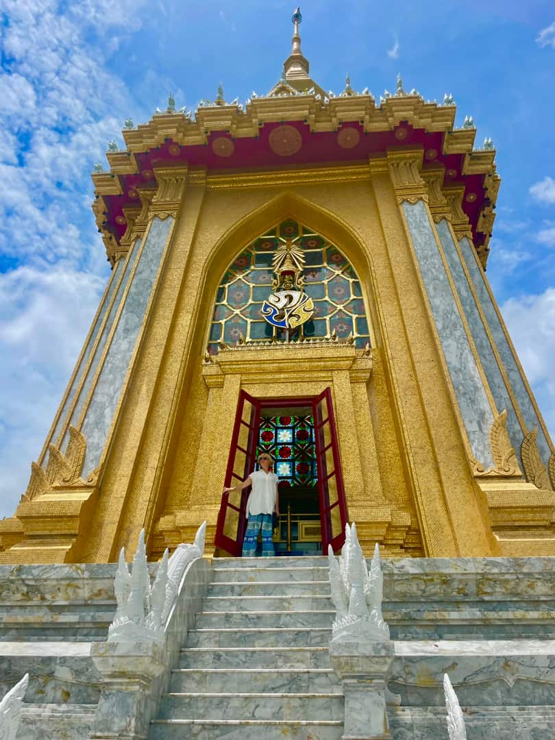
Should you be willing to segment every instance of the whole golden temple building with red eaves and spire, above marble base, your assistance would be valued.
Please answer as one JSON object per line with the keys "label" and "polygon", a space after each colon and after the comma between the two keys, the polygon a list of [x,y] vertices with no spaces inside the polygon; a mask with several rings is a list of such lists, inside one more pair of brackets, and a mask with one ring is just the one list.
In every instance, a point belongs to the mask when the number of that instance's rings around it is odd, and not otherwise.
{"label": "whole golden temple building with red eaves and spire, above marble base", "polygon": [[[296,19],[295,19],[296,17]],[[554,446],[485,268],[499,176],[456,107],[266,95],[126,122],[93,209],[112,275],[0,563],[236,555],[275,458],[283,554],[555,554]]]}

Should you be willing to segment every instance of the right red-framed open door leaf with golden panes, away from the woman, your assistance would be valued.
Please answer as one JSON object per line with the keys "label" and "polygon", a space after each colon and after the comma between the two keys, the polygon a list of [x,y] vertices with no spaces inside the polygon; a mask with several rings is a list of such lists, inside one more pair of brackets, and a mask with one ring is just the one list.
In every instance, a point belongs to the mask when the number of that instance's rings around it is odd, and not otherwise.
{"label": "right red-framed open door leaf with golden panes, away from the woman", "polygon": [[345,489],[330,388],[326,388],[323,393],[312,400],[312,411],[322,526],[322,552],[326,555],[328,545],[332,545],[334,551],[343,546],[347,523]]}

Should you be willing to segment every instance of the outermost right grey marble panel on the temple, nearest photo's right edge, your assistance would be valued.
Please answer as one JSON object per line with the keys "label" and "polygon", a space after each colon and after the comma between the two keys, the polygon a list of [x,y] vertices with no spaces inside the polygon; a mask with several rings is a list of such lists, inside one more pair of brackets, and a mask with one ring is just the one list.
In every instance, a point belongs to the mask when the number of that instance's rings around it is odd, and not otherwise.
{"label": "outermost right grey marble panel on the temple, nearest photo's right edge", "polygon": [[[548,440],[545,438],[542,425],[539,423],[536,409],[532,403],[531,394],[528,392],[528,388],[526,388],[526,384],[522,378],[522,374],[520,373],[519,366],[517,365],[511,346],[508,343],[503,326],[499,321],[499,316],[495,310],[494,302],[491,299],[490,292],[485,284],[484,272],[474,256],[474,251],[468,239],[464,237],[459,243],[462,255],[465,258],[466,265],[468,266],[468,272],[470,273],[472,282],[474,283],[476,294],[482,304],[485,318],[488,321],[491,336],[494,338],[497,345],[497,351],[499,352],[499,356],[501,357],[503,366],[505,367],[505,372],[511,381],[511,386],[513,388],[514,395],[517,398],[517,403],[520,407],[520,412],[525,425],[528,427],[528,430],[534,427],[537,428],[539,454],[542,456],[542,460],[545,465],[547,465],[551,455],[551,449],[549,448]],[[517,448],[520,447],[520,443],[522,443],[522,438],[519,441]]]}

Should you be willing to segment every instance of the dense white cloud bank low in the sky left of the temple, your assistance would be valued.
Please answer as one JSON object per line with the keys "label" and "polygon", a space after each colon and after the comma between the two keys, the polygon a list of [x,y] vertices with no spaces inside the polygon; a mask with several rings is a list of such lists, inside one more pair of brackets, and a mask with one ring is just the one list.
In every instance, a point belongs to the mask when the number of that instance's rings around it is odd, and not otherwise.
{"label": "dense white cloud bank low in the sky left of the temple", "polygon": [[0,517],[27,487],[105,282],[61,263],[0,275]]}

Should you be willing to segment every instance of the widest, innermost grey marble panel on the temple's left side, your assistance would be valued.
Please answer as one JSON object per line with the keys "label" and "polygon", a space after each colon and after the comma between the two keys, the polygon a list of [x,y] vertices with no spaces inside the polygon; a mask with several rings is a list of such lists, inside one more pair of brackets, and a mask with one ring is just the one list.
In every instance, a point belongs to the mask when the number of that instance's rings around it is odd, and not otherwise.
{"label": "widest, innermost grey marble panel on the temple's left side", "polygon": [[144,249],[138,258],[135,275],[131,278],[118,326],[81,426],[87,440],[84,477],[98,466],[106,444],[172,223],[172,218],[164,221],[154,218]]}

